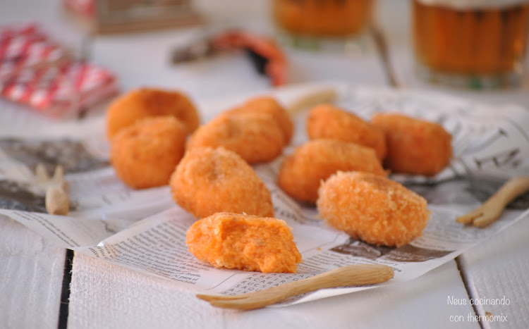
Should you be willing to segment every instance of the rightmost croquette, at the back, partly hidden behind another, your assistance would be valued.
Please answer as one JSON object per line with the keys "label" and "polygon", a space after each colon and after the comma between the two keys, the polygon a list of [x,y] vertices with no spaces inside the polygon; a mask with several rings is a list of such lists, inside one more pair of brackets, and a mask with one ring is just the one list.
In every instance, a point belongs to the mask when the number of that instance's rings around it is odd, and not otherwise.
{"label": "rightmost croquette, at the back, partly hidden behind another", "polygon": [[441,125],[399,113],[376,113],[372,123],[384,130],[392,172],[432,176],[450,163],[451,135]]}

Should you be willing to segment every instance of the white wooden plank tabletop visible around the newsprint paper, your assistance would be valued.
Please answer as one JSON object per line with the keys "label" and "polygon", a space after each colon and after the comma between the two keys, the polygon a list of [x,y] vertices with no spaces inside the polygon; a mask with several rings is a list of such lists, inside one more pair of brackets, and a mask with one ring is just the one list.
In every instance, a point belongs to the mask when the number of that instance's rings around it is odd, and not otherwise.
{"label": "white wooden plank tabletop visible around the newsprint paper", "polygon": [[[196,1],[210,27],[237,26],[272,32],[267,0]],[[377,17],[386,33],[391,62],[407,88],[433,89],[497,104],[529,107],[529,83],[518,89],[470,92],[431,86],[413,75],[406,0],[379,1]],[[2,0],[0,25],[37,21],[80,49],[83,33],[61,14],[58,0]],[[91,61],[111,68],[121,88],[154,85],[183,89],[207,101],[230,94],[261,93],[269,81],[252,70],[243,55],[171,66],[169,51],[200,29],[95,37],[87,44]],[[86,39],[84,39],[86,40]],[[86,44],[85,44],[86,45]],[[321,54],[286,49],[289,82],[341,80],[387,85],[371,43],[356,54]],[[6,106],[0,103],[0,106]],[[13,110],[6,110],[13,111]],[[19,111],[18,109],[16,111]],[[27,111],[21,109],[20,111]],[[93,111],[90,116],[101,115]],[[30,127],[42,124],[27,116]],[[321,299],[281,309],[215,309],[178,284],[130,271],[82,254],[73,257],[68,318],[61,328],[527,328],[529,323],[529,231],[516,223],[490,241],[463,253],[458,261],[408,283]],[[56,328],[59,325],[65,249],[14,221],[0,218],[0,328]],[[447,298],[507,297],[508,306],[454,306]],[[478,313],[476,313],[478,312]],[[504,314],[506,323],[451,322],[451,316]]]}

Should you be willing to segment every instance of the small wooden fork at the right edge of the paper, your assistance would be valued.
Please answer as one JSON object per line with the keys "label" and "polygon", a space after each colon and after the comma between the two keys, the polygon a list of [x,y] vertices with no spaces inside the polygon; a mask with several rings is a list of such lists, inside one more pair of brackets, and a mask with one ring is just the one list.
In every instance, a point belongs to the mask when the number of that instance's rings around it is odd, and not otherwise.
{"label": "small wooden fork at the right edge of the paper", "polygon": [[492,224],[501,216],[505,206],[516,199],[519,195],[529,190],[529,177],[517,176],[508,180],[499,190],[492,194],[478,209],[474,209],[466,215],[459,216],[456,221],[465,225],[474,225],[484,228]]}

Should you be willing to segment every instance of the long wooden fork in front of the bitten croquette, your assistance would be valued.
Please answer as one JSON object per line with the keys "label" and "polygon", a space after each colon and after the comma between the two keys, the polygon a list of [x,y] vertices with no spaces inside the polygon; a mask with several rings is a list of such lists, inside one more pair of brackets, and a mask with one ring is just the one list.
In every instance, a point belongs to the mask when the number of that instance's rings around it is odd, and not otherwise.
{"label": "long wooden fork in front of the bitten croquette", "polygon": [[324,288],[343,287],[348,285],[372,285],[383,283],[393,278],[393,268],[378,264],[359,264],[343,266],[312,278],[285,283],[258,292],[237,294],[235,296],[212,296],[197,294],[197,297],[209,302],[212,306],[225,309],[260,309],[261,307],[281,302],[288,297],[305,294]]}

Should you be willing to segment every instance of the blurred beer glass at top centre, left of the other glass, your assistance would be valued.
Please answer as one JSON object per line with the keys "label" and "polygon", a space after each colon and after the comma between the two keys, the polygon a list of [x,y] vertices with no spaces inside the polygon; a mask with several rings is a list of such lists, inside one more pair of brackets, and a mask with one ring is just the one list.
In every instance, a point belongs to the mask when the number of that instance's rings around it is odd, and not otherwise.
{"label": "blurred beer glass at top centre, left of the other glass", "polygon": [[315,46],[322,40],[362,35],[370,24],[375,0],[273,0],[279,32],[294,45]]}

